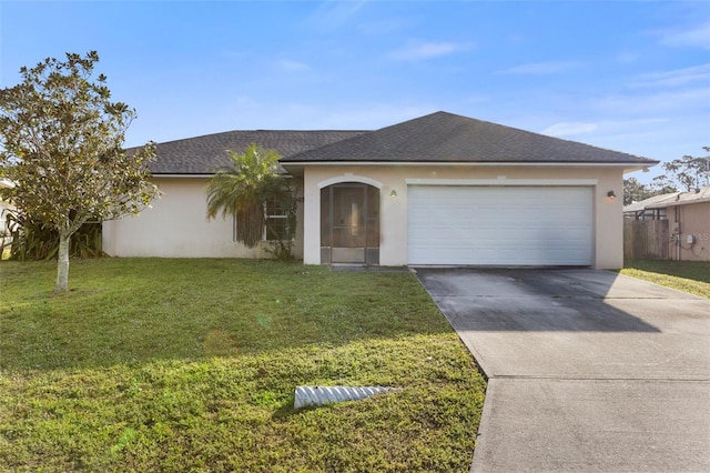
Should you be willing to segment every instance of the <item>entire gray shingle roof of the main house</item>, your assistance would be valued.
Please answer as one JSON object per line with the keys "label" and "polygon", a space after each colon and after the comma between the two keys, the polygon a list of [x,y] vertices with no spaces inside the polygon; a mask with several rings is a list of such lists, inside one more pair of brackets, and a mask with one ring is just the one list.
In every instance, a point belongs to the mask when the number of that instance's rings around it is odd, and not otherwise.
{"label": "entire gray shingle roof of the main house", "polygon": [[481,120],[436,112],[376,131],[227,131],[158,144],[153,174],[213,174],[227,150],[256,143],[281,162],[621,163],[658,161]]}

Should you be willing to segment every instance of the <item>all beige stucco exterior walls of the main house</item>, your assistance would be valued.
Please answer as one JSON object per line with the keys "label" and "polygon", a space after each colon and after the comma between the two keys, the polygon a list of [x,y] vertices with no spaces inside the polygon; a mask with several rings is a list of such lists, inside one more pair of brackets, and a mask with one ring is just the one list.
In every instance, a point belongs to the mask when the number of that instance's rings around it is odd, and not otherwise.
{"label": "all beige stucco exterior walls of the main house", "polygon": [[[297,214],[294,254],[321,264],[321,189],[365,182],[381,190],[379,264],[407,264],[407,189],[417,183],[459,185],[585,185],[594,195],[594,266],[623,263],[622,167],[600,165],[407,165],[310,164],[294,178],[303,202]],[[115,256],[268,258],[263,246],[246,249],[233,240],[232,218],[206,219],[206,177],[156,177],[163,195],[138,217],[105,222],[103,249]],[[302,184],[302,185],[301,185]],[[390,197],[392,191],[396,197]],[[540,209],[541,212],[545,209]]]}

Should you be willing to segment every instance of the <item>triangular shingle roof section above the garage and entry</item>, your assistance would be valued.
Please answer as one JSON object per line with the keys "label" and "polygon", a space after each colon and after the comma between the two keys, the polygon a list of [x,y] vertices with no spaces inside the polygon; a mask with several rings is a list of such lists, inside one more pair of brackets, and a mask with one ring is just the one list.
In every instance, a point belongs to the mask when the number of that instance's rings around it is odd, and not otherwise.
{"label": "triangular shingle roof section above the garage and entry", "polygon": [[281,161],[658,163],[447,112],[358,134]]}

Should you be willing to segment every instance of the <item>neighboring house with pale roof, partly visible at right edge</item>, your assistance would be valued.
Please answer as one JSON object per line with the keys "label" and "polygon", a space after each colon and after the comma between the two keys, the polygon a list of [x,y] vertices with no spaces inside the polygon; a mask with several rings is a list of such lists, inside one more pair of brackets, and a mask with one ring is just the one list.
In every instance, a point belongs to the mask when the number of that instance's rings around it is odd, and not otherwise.
{"label": "neighboring house with pale roof, partly visible at right edge", "polygon": [[669,259],[710,261],[710,185],[635,202],[623,208],[623,214],[636,220],[668,220]]}

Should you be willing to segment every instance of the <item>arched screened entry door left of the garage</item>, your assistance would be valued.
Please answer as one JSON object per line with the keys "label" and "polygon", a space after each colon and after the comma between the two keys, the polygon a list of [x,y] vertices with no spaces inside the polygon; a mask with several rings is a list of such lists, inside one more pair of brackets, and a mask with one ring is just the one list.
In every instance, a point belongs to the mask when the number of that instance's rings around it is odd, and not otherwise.
{"label": "arched screened entry door left of the garage", "polygon": [[379,264],[379,190],[361,183],[321,190],[321,261]]}

